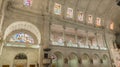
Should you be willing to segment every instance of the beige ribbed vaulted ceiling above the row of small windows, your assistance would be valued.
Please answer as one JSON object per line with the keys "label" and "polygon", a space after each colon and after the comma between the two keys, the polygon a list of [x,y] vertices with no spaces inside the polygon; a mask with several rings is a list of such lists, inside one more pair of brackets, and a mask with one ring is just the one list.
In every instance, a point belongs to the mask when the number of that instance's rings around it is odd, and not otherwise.
{"label": "beige ribbed vaulted ceiling above the row of small windows", "polygon": [[[105,25],[109,27],[111,22],[115,23],[115,31],[120,33],[120,6],[117,0],[53,0],[54,2],[65,2],[65,6],[82,11],[85,18],[92,15],[94,18],[102,18]],[[119,1],[119,0],[118,0]]]}

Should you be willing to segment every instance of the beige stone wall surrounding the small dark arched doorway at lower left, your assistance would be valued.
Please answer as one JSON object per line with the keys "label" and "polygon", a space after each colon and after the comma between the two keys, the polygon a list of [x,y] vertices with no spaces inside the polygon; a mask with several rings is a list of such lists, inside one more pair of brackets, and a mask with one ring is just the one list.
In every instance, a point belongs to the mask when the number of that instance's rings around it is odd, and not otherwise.
{"label": "beige stone wall surrounding the small dark arched doorway at lower left", "polygon": [[15,64],[15,56],[19,53],[24,53],[27,56],[27,65],[35,64],[37,65],[39,56],[38,56],[38,49],[32,48],[20,48],[20,47],[4,47],[2,55],[0,56],[0,67],[2,65],[10,65],[13,67]]}

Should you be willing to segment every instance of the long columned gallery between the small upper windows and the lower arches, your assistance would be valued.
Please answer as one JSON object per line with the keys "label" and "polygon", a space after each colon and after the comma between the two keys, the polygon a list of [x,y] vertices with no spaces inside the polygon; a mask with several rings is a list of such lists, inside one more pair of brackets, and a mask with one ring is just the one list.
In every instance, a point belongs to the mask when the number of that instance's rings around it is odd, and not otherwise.
{"label": "long columned gallery between the small upper windows and the lower arches", "polygon": [[74,28],[52,25],[50,40],[52,45],[80,47],[91,49],[106,49],[102,34],[75,30]]}

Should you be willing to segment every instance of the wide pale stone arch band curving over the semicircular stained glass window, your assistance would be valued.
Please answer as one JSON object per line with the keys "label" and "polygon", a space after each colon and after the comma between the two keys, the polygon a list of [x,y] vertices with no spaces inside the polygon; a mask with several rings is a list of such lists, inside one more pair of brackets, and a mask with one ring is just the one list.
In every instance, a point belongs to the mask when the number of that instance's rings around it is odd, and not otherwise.
{"label": "wide pale stone arch band curving over the semicircular stained glass window", "polygon": [[26,21],[16,21],[10,24],[4,32],[3,40],[5,40],[12,31],[20,30],[20,29],[28,30],[31,33],[33,33],[37,37],[38,44],[40,44],[41,34],[40,34],[39,29],[35,25],[31,24],[30,22],[26,22]]}

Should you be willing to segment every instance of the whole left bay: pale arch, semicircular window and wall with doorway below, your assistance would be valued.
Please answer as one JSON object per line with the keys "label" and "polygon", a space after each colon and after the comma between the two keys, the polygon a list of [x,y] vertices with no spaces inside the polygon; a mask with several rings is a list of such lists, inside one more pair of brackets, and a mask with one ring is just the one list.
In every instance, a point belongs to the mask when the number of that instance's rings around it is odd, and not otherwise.
{"label": "whole left bay: pale arch, semicircular window and wall with doorway below", "polygon": [[[0,47],[0,52],[2,52],[1,65],[9,64],[10,67],[14,67],[14,65],[20,67],[40,66],[41,34],[36,25],[26,21],[13,22],[4,30],[3,41],[4,47]],[[26,59],[20,59],[21,56],[25,57],[25,55]]]}

